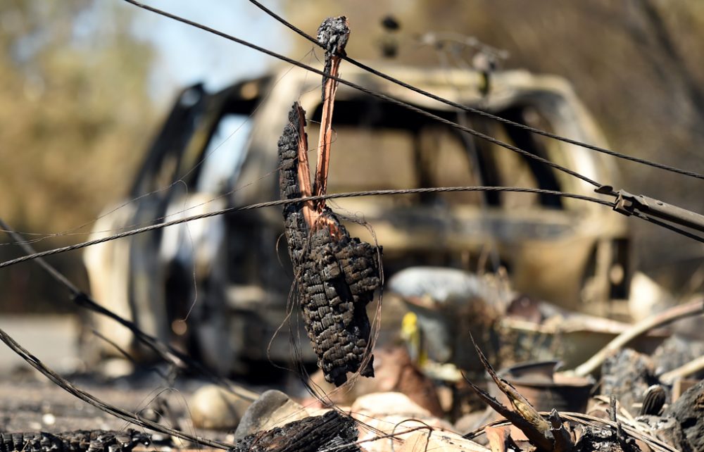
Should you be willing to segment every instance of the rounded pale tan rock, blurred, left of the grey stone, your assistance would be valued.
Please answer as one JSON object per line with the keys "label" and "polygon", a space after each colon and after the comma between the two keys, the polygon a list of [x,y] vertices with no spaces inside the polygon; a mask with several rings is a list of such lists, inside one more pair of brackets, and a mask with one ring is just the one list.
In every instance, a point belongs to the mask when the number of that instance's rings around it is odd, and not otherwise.
{"label": "rounded pale tan rock, blurred, left of the grey stone", "polygon": [[237,427],[250,404],[250,401],[215,384],[202,387],[189,401],[193,424],[199,428],[215,430]]}

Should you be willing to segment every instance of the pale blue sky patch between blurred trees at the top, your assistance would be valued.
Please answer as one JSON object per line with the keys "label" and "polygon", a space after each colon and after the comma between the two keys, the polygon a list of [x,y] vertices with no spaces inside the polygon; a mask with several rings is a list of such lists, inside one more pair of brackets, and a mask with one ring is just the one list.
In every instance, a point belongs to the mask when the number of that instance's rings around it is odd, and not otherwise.
{"label": "pale blue sky patch between blurred trees at the top", "polygon": [[[246,0],[151,0],[144,3],[279,53],[285,54],[288,43],[299,39]],[[262,3],[281,12],[278,0],[263,0]],[[135,9],[137,34],[153,42],[159,53],[152,80],[158,101],[170,101],[177,88],[200,81],[206,82],[208,89],[220,89],[241,77],[260,74],[275,63],[269,56],[222,37]]]}

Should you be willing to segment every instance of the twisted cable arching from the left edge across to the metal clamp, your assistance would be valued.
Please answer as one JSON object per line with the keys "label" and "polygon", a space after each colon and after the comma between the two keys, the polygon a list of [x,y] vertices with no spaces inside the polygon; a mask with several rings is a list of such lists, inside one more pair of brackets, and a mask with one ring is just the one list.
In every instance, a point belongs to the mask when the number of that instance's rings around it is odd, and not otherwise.
{"label": "twisted cable arching from the left edge across to the metal clamp", "polygon": [[582,201],[589,201],[593,203],[598,203],[603,206],[608,206],[613,208],[615,203],[612,201],[604,201],[603,199],[593,198],[591,196],[584,196],[581,194],[572,194],[565,192],[557,192],[555,190],[546,189],[534,189],[525,187],[429,187],[429,188],[417,188],[417,189],[396,189],[396,190],[370,190],[366,192],[348,192],[348,193],[335,193],[326,194],[322,196],[308,196],[306,198],[296,198],[296,199],[279,199],[277,201],[267,201],[263,203],[249,204],[248,206],[241,207],[230,207],[221,209],[219,211],[213,211],[208,213],[201,213],[200,215],[192,215],[186,218],[179,218],[177,220],[171,220],[168,222],[158,223],[156,225],[149,225],[145,227],[139,227],[134,230],[128,230],[125,232],[120,232],[118,234],[113,234],[108,237],[101,237],[100,239],[94,239],[89,241],[83,241],[78,244],[73,244],[69,246],[63,246],[61,248],[50,249],[47,251],[41,251],[39,253],[32,253],[26,256],[21,256],[19,258],[6,260],[0,263],[0,268],[9,267],[10,265],[15,265],[18,263],[23,263],[27,260],[32,260],[36,258],[44,258],[46,256],[52,256],[58,253],[65,253],[66,251],[73,251],[76,249],[82,249],[87,246],[92,246],[96,244],[101,244],[106,241],[111,241],[115,239],[121,239],[122,237],[130,237],[135,234],[141,234],[142,232],[149,232],[153,230],[159,230],[164,227],[180,225],[184,222],[189,222],[193,220],[201,220],[203,218],[210,218],[217,215],[224,215],[226,213],[234,213],[241,211],[251,211],[257,208],[273,207],[273,206],[284,206],[291,203],[300,203],[303,201],[322,201],[326,199],[342,199],[342,198],[353,198],[357,196],[384,196],[384,195],[399,195],[399,194],[418,194],[418,193],[449,193],[449,192],[516,192],[516,193],[535,193],[535,194],[552,194],[555,196],[562,196],[565,198],[580,199]]}

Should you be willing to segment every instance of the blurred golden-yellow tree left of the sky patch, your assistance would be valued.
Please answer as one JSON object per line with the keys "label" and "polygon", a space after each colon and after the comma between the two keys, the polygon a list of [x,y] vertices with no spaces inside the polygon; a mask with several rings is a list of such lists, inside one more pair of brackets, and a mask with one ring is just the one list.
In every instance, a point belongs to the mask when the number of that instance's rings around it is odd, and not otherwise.
{"label": "blurred golden-yellow tree left of the sky patch", "polygon": [[[125,193],[155,133],[153,51],[132,34],[132,12],[120,2],[0,2],[0,215],[17,230],[72,230]],[[56,259],[80,269],[79,253]],[[51,290],[30,265],[0,272],[11,289],[0,307],[28,308]]]}

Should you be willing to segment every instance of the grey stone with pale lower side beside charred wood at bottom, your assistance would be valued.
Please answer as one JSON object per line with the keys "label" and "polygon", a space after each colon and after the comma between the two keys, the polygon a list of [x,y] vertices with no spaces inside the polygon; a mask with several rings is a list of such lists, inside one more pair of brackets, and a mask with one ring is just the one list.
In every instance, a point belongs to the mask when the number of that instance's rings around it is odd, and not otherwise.
{"label": "grey stone with pale lower side beside charred wood at bottom", "polygon": [[292,401],[282,391],[270,389],[247,408],[234,432],[234,439],[242,439],[249,434],[280,427],[308,416],[310,414],[303,406]]}

